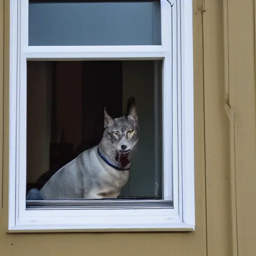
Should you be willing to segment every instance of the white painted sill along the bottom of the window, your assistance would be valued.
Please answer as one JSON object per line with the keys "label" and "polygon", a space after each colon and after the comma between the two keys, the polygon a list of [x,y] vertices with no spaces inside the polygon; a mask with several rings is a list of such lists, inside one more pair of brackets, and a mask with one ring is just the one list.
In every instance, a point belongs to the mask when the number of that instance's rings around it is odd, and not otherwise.
{"label": "white painted sill along the bottom of the window", "polygon": [[[24,205],[23,205],[24,207]],[[9,219],[9,232],[152,232],[193,231],[193,207],[25,209]]]}

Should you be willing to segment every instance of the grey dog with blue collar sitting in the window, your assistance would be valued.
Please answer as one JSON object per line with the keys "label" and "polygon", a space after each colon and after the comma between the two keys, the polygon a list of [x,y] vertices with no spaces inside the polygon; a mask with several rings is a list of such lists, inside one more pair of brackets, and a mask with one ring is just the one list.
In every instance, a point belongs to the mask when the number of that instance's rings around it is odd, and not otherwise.
{"label": "grey dog with blue collar sitting in the window", "polygon": [[135,100],[126,114],[112,118],[104,108],[104,131],[99,144],[65,164],[44,184],[44,200],[104,199],[119,196],[129,178],[131,154],[139,137]]}

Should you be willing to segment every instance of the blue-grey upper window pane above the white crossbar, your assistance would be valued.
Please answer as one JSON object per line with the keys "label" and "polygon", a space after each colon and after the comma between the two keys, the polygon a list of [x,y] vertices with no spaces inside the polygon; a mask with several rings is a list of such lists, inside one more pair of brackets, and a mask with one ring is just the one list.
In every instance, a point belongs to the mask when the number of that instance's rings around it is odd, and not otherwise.
{"label": "blue-grey upper window pane above the white crossbar", "polygon": [[28,45],[160,45],[160,1],[29,0]]}

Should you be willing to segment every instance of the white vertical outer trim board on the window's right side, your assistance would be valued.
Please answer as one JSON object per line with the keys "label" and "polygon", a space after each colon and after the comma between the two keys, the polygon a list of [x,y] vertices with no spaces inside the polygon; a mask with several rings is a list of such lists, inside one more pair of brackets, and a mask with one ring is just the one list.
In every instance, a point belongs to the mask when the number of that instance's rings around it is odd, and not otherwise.
{"label": "white vertical outer trim board on the window's right side", "polygon": [[180,0],[183,221],[195,223],[192,0]]}

